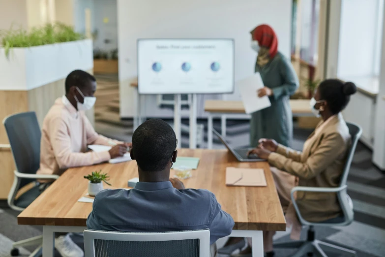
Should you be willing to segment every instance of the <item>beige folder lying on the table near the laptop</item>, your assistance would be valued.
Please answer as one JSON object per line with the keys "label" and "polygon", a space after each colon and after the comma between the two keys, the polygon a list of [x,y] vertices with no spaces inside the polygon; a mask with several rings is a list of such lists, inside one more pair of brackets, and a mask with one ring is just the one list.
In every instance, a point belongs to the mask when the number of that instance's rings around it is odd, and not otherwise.
{"label": "beige folder lying on the table near the laptop", "polygon": [[226,186],[266,187],[264,169],[227,167]]}

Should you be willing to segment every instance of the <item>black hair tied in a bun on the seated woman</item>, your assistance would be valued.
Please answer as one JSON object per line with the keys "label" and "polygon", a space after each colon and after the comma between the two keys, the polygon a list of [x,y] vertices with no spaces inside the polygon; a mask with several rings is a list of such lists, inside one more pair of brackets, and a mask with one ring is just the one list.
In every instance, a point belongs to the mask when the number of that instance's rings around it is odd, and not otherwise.
{"label": "black hair tied in a bun on the seated woman", "polygon": [[348,105],[350,96],[355,94],[357,87],[353,82],[342,82],[338,79],[326,79],[318,87],[321,99],[326,100],[330,111],[337,114]]}

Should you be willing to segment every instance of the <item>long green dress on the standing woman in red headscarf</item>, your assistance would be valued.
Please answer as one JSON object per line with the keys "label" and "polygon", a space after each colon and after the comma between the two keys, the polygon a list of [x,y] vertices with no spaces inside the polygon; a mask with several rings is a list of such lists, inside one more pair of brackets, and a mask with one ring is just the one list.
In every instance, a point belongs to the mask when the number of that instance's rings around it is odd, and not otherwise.
{"label": "long green dress on the standing woman in red headscarf", "polygon": [[289,146],[293,138],[293,113],[289,98],[299,86],[296,72],[280,52],[263,67],[256,63],[255,72],[261,74],[264,85],[272,89],[273,96],[269,96],[270,107],[251,114],[250,146],[256,147],[260,138],[272,138]]}

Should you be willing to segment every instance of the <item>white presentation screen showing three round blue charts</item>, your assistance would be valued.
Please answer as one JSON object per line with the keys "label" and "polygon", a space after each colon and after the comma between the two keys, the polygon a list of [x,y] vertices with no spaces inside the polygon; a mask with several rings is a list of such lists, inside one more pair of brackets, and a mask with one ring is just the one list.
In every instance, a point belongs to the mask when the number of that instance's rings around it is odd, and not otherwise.
{"label": "white presentation screen showing three round blue charts", "polygon": [[138,39],[139,94],[234,91],[234,39]]}

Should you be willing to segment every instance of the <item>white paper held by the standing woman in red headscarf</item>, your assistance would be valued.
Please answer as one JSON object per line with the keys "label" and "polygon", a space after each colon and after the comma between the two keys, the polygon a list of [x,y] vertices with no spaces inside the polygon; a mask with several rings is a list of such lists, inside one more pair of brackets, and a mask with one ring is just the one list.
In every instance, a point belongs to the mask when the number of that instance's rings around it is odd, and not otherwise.
{"label": "white paper held by the standing woman in red headscarf", "polygon": [[258,97],[257,91],[264,87],[259,72],[251,77],[238,81],[237,87],[240,90],[240,96],[242,97],[243,106],[247,114],[271,106],[268,96]]}

